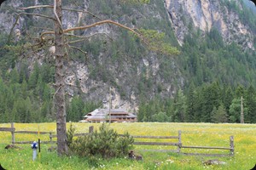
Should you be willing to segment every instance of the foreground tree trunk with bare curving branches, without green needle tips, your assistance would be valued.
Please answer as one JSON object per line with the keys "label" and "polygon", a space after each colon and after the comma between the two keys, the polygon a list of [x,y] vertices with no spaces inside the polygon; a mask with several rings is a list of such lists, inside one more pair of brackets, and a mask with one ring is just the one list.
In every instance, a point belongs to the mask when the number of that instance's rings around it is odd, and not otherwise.
{"label": "foreground tree trunk with bare curving branches, without green needle tips", "polygon": [[[26,8],[20,8],[22,10],[29,9],[29,8],[53,8],[54,11],[54,17],[53,16],[45,16],[43,14],[29,14],[29,15],[35,15],[38,17],[44,17],[50,20],[55,21],[55,31],[44,31],[40,34],[40,37],[38,38],[38,44],[44,44],[46,39],[51,39],[54,36],[54,45],[55,45],[55,111],[56,111],[56,132],[57,132],[57,152],[58,155],[65,155],[67,154],[68,147],[67,147],[67,127],[66,127],[66,103],[65,103],[65,71],[64,71],[64,58],[66,53],[66,47],[75,48],[78,49],[80,52],[85,53],[83,50],[73,47],[69,44],[66,44],[68,42],[65,42],[65,37],[70,36],[69,32],[71,31],[77,31],[77,30],[86,30],[91,27],[100,26],[104,24],[111,24],[114,26],[119,26],[121,28],[124,28],[128,31],[133,32],[135,35],[137,35],[140,38],[141,34],[131,29],[127,26],[124,26],[122,24],[119,24],[118,22],[115,22],[113,20],[100,20],[94,24],[91,24],[89,26],[79,26],[79,27],[73,27],[69,29],[63,29],[62,28],[62,11],[63,10],[70,10],[73,12],[81,12],[81,10],[76,9],[62,9],[61,8],[61,0],[54,0],[54,6],[51,5],[37,5],[32,7],[26,7]],[[83,11],[88,14],[92,14],[88,11]],[[20,14],[28,14],[28,13],[20,13]],[[20,16],[18,14],[18,16]],[[94,14],[93,14],[94,15]],[[96,15],[94,15],[96,16]],[[98,18],[98,17],[97,17]],[[99,19],[99,18],[98,18]],[[47,37],[48,36],[48,37]],[[84,38],[84,37],[79,37]]]}

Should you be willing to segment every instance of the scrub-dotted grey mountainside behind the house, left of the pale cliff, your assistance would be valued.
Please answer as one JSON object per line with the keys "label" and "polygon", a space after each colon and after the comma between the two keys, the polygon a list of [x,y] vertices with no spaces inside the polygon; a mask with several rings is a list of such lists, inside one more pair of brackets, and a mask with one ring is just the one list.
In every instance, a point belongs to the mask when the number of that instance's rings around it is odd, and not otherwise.
{"label": "scrub-dotted grey mountainside behind the house, left of the pale cliff", "polygon": [[[38,4],[38,1],[22,3],[22,1],[15,0],[11,2],[3,5],[3,12],[1,13],[3,16],[1,18],[2,31],[6,32],[9,32],[15,23],[15,15],[9,15],[10,9],[14,10],[17,6]],[[44,2],[47,3],[47,1]],[[48,2],[50,3],[50,1]],[[79,8],[88,9],[97,17],[66,11],[63,20],[64,28],[88,25],[97,21],[98,18],[102,20],[111,18],[125,24],[125,26],[166,32],[165,41],[170,44],[177,44],[162,2],[155,1],[152,4],[143,4],[96,0],[77,1],[77,3]],[[70,6],[70,2],[66,1],[64,8],[78,7],[74,4]],[[42,9],[39,12],[52,14],[48,9]],[[151,17],[148,18],[148,15]],[[51,24],[38,17],[21,16],[14,29],[16,32],[15,39],[20,38],[17,37],[17,32],[21,32],[22,39],[26,36],[25,31],[36,31],[36,26],[51,27]],[[73,97],[80,94],[87,100],[108,101],[109,87],[112,87],[113,107],[122,105],[133,110],[137,108],[140,94],[143,98],[147,96],[150,99],[161,91],[161,95],[172,97],[175,88],[183,86],[183,77],[172,58],[168,57],[167,61],[164,61],[166,56],[151,53],[127,31],[116,26],[103,25],[87,31],[75,32],[79,36],[90,36],[95,33],[100,34],[75,44],[87,51],[87,56],[74,50],[69,52],[70,58],[73,58],[68,61],[66,73],[67,94],[69,96]],[[49,55],[47,48],[44,51]],[[31,56],[31,58],[35,57],[38,58],[37,54]],[[42,62],[44,59],[39,59],[39,63],[42,64]],[[162,78],[163,73],[160,71],[160,67],[164,68],[161,66],[163,64],[170,70],[165,73],[166,78]],[[32,65],[30,67],[32,69]],[[176,82],[176,85],[172,85],[170,82]]]}

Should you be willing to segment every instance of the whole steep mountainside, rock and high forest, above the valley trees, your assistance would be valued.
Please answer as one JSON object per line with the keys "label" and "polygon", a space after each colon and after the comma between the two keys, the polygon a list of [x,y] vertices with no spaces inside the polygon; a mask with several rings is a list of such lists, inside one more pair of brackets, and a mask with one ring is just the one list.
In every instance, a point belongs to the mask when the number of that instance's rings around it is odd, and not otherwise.
{"label": "whole steep mountainside, rock and high forest, above the valley trees", "polygon": [[[3,3],[0,9],[2,34],[9,33],[14,26],[13,11],[17,12],[18,7],[52,3],[50,0],[10,0],[9,2]],[[155,96],[172,98],[177,93],[177,89],[188,87],[192,81],[196,85],[201,85],[202,82],[212,82],[218,76],[220,82],[230,84],[255,83],[253,80],[256,77],[254,65],[256,17],[254,14],[253,18],[249,19],[246,14],[251,14],[247,12],[250,10],[239,0],[229,2],[151,0],[149,3],[77,0],[76,3],[72,2],[63,1],[63,7],[85,9],[95,15],[65,11],[64,28],[89,25],[99,19],[111,19],[131,28],[163,32],[166,35],[164,41],[170,46],[179,48],[181,54],[167,56],[152,52],[136,37],[116,26],[103,25],[86,31],[74,31],[74,34],[86,37],[95,33],[100,34],[87,38],[84,42],[74,43],[74,46],[86,51],[86,55],[72,48],[68,52],[65,76],[67,95],[71,98],[79,94],[84,100],[104,101],[103,103],[106,101],[105,104],[109,105],[111,93],[113,107],[137,111],[141,101],[153,99]],[[53,14],[50,9],[45,8],[27,12]],[[12,45],[26,42],[29,39],[28,33],[30,36],[32,33],[38,34],[40,31],[45,31],[45,27],[52,26],[51,21],[22,15],[15,25]],[[232,42],[236,42],[239,46]],[[233,53],[234,48],[237,51]],[[248,51],[246,54],[243,53],[245,50]],[[244,54],[247,57],[236,54]],[[4,52],[1,59],[8,59],[8,55]],[[52,58],[49,47],[43,48],[37,54],[23,55],[28,57],[26,60],[31,71],[36,60],[39,65],[43,65],[50,60],[46,58]],[[1,68],[2,77],[5,72],[12,71],[14,65],[20,71],[18,63],[12,62],[12,65]],[[27,75],[31,75],[31,71]],[[227,76],[217,71],[225,72]],[[232,80],[236,81],[232,82]]]}

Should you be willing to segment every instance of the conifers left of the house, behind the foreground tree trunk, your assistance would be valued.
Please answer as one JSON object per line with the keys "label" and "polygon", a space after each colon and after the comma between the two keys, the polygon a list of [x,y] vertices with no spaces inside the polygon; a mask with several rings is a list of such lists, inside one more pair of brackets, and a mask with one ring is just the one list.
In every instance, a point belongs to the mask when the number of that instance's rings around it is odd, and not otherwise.
{"label": "conifers left of the house, behind the foreground tree trunk", "polygon": [[[55,90],[53,67],[43,64],[29,65],[21,62],[0,77],[0,122],[53,122],[55,112],[53,96]],[[85,113],[93,111],[100,104],[84,102],[80,96],[67,101],[67,121],[78,122]]]}

